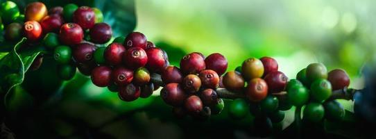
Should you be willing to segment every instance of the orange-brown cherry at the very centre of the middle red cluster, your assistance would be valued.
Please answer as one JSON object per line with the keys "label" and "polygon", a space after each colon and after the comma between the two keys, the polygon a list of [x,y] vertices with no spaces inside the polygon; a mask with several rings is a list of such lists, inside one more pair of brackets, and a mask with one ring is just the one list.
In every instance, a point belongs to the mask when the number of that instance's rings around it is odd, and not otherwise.
{"label": "orange-brown cherry at the very centre of the middle red cluster", "polygon": [[194,94],[200,90],[201,80],[197,75],[189,74],[183,79],[182,85],[187,93]]}

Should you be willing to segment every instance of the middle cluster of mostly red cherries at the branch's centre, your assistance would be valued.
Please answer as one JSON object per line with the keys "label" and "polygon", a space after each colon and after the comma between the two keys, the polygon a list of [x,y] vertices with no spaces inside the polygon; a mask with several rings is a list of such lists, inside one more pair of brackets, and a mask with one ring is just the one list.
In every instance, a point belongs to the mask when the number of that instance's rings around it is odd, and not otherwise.
{"label": "middle cluster of mostly red cherries at the branch's centre", "polygon": [[160,96],[177,117],[191,115],[206,119],[221,113],[224,103],[216,93],[220,76],[225,73],[228,61],[218,53],[203,56],[198,52],[187,54],[180,60],[180,68],[166,67],[162,81],[166,84]]}

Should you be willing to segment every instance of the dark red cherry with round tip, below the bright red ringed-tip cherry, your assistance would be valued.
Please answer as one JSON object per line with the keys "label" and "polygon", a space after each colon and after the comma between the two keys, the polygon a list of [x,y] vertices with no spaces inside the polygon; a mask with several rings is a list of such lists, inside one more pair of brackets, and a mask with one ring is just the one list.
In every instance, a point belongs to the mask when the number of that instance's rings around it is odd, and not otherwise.
{"label": "dark red cherry with round tip, below the bright red ringed-tip cherry", "polygon": [[115,67],[112,71],[112,79],[117,85],[128,85],[133,80],[133,70],[126,67]]}

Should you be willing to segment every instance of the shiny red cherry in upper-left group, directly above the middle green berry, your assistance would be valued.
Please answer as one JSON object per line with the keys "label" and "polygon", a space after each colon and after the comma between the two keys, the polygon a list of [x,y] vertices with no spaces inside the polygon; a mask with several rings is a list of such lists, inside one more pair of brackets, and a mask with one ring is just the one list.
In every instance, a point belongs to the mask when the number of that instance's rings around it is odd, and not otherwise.
{"label": "shiny red cherry in upper-left group, directly above the middle green berry", "polygon": [[60,42],[67,45],[80,44],[83,41],[83,28],[78,24],[67,23],[60,28],[59,38]]}

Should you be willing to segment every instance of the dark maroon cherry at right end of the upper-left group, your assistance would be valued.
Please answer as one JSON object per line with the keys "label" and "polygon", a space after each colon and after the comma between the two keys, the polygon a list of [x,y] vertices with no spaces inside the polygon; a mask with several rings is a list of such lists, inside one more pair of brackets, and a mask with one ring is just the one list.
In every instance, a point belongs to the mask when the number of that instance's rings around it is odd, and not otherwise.
{"label": "dark maroon cherry at right end of the upper-left group", "polygon": [[111,40],[111,26],[105,23],[97,23],[90,29],[90,39],[94,43],[103,44]]}

